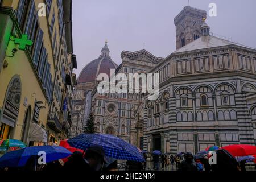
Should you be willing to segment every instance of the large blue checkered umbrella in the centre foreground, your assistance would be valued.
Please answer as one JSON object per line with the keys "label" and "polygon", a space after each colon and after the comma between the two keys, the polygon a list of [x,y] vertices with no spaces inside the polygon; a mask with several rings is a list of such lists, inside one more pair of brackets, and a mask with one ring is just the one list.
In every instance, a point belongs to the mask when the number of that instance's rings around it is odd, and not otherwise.
{"label": "large blue checkered umbrella in the centre foreground", "polygon": [[105,155],[110,158],[144,162],[144,156],[138,151],[137,147],[114,135],[83,133],[69,139],[68,143],[71,147],[80,148],[81,150],[86,150],[92,145],[98,145],[104,148]]}

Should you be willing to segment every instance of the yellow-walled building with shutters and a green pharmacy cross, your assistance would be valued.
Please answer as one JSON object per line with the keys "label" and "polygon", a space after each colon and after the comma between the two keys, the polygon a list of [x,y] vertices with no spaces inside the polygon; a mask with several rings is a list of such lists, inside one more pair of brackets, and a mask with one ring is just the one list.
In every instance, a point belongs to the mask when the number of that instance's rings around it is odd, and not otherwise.
{"label": "yellow-walled building with shutters and a green pharmacy cross", "polygon": [[0,3],[0,139],[65,139],[76,68],[72,1]]}

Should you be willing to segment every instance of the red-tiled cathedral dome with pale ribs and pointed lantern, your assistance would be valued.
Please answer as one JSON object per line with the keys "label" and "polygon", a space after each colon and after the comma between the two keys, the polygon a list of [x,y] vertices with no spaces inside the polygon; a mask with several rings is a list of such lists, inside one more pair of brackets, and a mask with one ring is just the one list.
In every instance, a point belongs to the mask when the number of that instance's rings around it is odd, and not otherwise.
{"label": "red-tiled cathedral dome with pale ribs and pointed lantern", "polygon": [[100,73],[106,73],[110,77],[110,69],[116,69],[118,66],[112,61],[109,52],[108,44],[106,42],[101,50],[100,57],[91,61],[84,67],[84,69],[82,69],[77,83],[83,84],[86,82],[94,82]]}

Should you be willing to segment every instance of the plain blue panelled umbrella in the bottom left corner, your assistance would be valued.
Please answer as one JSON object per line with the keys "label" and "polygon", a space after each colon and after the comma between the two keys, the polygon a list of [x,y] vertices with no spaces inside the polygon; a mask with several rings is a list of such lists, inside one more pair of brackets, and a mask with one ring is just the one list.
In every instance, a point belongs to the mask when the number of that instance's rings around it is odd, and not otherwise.
{"label": "plain blue panelled umbrella in the bottom left corner", "polygon": [[31,156],[38,155],[40,151],[46,152],[46,163],[67,158],[72,154],[69,150],[60,146],[34,146],[20,150],[7,152],[0,158],[0,167],[23,167]]}

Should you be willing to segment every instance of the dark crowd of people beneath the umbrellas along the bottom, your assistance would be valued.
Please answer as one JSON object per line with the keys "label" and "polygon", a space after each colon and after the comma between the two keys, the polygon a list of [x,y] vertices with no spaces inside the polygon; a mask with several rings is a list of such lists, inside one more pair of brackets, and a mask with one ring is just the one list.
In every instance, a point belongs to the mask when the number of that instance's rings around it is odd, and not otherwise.
{"label": "dark crowd of people beneath the umbrellas along the bottom", "polygon": [[[144,162],[126,161],[126,170],[129,171],[143,171],[150,170],[147,167],[148,154],[143,154]],[[108,159],[108,160],[107,160]],[[91,146],[86,152],[79,151],[73,152],[67,159],[67,162],[63,163],[62,160],[56,160],[46,165],[39,165],[36,163],[38,158],[31,156],[27,160],[26,166],[22,168],[3,168],[5,171],[118,171],[118,160],[108,158],[105,156],[104,149],[101,146]],[[168,170],[171,165],[172,170],[176,166],[177,171],[245,171],[245,161],[237,162],[228,152],[225,150],[217,151],[217,165],[209,164],[209,156],[201,155],[196,158],[191,152],[185,152],[182,155],[153,155],[154,165],[153,170]],[[0,169],[1,171],[1,169]]]}

